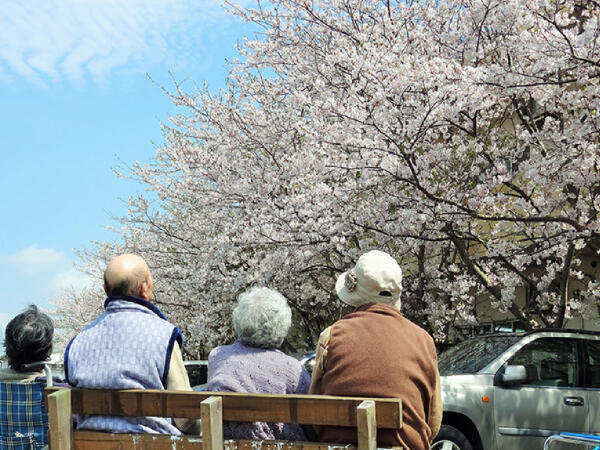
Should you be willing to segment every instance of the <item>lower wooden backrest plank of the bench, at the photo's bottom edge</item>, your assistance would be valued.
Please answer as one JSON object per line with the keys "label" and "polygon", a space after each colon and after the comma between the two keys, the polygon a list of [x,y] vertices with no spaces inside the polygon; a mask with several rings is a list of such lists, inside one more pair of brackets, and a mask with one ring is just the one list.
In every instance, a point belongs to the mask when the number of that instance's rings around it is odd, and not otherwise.
{"label": "lower wooden backrest plank of the bench, at the photo's bottom edge", "polygon": [[[198,436],[167,436],[157,434],[111,434],[96,431],[75,431],[75,450],[204,450]],[[227,439],[223,442],[228,450],[333,450],[356,449],[355,445],[319,442],[250,441]]]}

